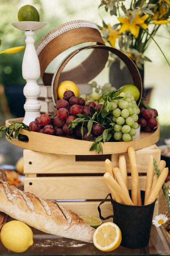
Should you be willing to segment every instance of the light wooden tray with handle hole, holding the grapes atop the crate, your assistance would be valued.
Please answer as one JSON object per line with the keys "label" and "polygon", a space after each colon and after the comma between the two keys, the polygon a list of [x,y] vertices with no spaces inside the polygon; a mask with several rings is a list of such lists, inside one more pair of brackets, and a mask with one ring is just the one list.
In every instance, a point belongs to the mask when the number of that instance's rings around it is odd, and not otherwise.
{"label": "light wooden tray with handle hole, holding the grapes atop the crate", "polygon": [[[20,121],[18,119],[9,119],[6,121],[6,126],[9,126],[12,121]],[[135,150],[146,148],[155,144],[159,140],[160,125],[158,124],[155,132],[141,132],[139,138],[129,142],[105,142],[102,144],[103,154],[114,154],[127,152],[128,147],[132,146]],[[21,129],[20,134],[26,135],[29,141],[19,141],[18,139],[8,139],[15,146],[30,149],[33,151],[62,154],[62,155],[98,155],[96,150],[89,151],[93,142],[79,139],[69,139],[64,137],[47,135],[39,132],[26,131]],[[100,153],[101,154],[101,153]]]}

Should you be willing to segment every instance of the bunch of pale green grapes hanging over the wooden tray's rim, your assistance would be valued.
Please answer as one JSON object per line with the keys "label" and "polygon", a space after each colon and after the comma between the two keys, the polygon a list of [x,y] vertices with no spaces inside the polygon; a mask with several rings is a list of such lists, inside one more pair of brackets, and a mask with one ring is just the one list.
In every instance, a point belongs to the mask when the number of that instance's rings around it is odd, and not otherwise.
{"label": "bunch of pale green grapes hanging over the wooden tray's rim", "polygon": [[[95,86],[97,86],[97,83],[93,81],[92,87],[95,88]],[[103,88],[103,90],[109,90],[109,88],[112,87],[109,83],[106,83]],[[113,100],[109,101],[107,99],[112,92],[104,92],[103,94],[93,92],[90,97],[86,94],[82,94],[80,97],[86,101],[86,106],[89,106],[89,104],[90,106],[93,106],[92,103],[101,107],[104,105],[102,107],[103,110],[105,109],[103,117],[108,118],[108,120],[110,120],[110,126],[112,126],[110,129],[110,132],[112,133],[110,141],[128,142],[133,139],[137,133],[137,128],[139,128],[138,115],[140,110],[130,92],[119,93],[119,90],[116,92],[118,99],[113,98]],[[106,106],[108,106],[108,109]],[[103,110],[100,110],[100,112]]]}

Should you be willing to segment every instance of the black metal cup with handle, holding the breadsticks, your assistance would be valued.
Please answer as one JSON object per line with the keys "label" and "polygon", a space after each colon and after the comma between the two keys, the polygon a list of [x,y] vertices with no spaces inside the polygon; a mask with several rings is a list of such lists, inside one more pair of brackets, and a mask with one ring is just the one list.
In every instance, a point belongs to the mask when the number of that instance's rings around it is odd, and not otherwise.
{"label": "black metal cup with handle, holding the breadsticks", "polygon": [[[131,190],[129,190],[131,197]],[[100,205],[110,196],[114,215],[102,217]],[[152,225],[155,202],[144,205],[145,191],[141,191],[141,206],[119,204],[112,199],[111,194],[99,204],[98,211],[102,220],[113,218],[113,222],[120,228],[122,240],[121,246],[139,249],[149,243],[150,229]]]}

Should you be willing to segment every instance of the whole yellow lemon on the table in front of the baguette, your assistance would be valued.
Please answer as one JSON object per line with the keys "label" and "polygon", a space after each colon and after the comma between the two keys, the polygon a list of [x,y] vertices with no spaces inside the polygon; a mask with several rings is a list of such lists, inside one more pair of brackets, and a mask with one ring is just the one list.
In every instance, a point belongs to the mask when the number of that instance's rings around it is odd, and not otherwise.
{"label": "whole yellow lemon on the table in front of the baguette", "polygon": [[0,240],[12,252],[25,252],[33,245],[33,232],[23,222],[12,220],[2,227]]}

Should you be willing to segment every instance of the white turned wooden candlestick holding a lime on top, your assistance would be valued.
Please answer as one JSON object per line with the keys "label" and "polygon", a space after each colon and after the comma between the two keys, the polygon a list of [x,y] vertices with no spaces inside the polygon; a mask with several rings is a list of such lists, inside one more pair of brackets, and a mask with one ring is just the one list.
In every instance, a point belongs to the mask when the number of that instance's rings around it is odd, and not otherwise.
{"label": "white turned wooden candlestick holding a lime on top", "polygon": [[36,117],[40,116],[41,105],[38,101],[40,95],[40,86],[37,80],[40,78],[40,63],[34,46],[34,31],[41,29],[46,25],[44,22],[21,21],[12,24],[14,27],[24,30],[26,36],[26,48],[22,61],[22,76],[26,80],[24,86],[24,104],[25,116],[23,123],[29,125]]}

